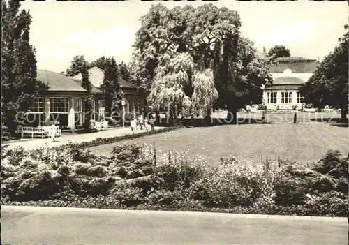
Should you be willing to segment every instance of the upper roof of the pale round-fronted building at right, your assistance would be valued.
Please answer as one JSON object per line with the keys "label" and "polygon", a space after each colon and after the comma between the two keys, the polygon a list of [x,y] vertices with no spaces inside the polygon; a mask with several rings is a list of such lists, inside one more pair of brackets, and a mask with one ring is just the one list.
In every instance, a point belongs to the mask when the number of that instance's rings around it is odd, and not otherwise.
{"label": "upper roof of the pale round-fronted building at right", "polygon": [[269,73],[283,73],[290,69],[292,73],[313,73],[318,67],[318,61],[300,57],[288,57],[275,59],[276,64],[270,66]]}

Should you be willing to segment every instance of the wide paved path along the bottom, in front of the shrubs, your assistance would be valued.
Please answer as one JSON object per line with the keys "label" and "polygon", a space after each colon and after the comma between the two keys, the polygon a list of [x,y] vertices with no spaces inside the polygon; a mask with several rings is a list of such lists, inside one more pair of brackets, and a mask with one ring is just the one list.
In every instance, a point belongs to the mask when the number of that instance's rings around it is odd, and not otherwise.
{"label": "wide paved path along the bottom, in front of the shrubs", "polygon": [[348,244],[347,218],[3,206],[1,228],[3,244]]}

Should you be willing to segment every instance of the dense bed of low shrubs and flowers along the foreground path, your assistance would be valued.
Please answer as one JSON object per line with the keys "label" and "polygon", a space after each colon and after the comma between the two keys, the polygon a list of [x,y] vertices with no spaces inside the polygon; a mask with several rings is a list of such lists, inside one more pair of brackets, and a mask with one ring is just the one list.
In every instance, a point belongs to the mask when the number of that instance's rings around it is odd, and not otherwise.
{"label": "dense bed of low shrubs and flowers along the foreground path", "polygon": [[235,158],[212,164],[135,144],[114,147],[108,158],[76,144],[1,155],[3,205],[348,214],[348,159],[337,151],[307,167]]}

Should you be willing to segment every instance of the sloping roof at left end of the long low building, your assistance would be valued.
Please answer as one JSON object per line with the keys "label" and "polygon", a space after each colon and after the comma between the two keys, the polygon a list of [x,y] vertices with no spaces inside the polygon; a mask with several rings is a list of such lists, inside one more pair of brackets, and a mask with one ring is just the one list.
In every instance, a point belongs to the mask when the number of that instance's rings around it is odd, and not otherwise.
{"label": "sloping roof at left end of the long low building", "polygon": [[77,82],[50,70],[37,70],[37,80],[49,86],[49,91],[81,91],[87,92]]}

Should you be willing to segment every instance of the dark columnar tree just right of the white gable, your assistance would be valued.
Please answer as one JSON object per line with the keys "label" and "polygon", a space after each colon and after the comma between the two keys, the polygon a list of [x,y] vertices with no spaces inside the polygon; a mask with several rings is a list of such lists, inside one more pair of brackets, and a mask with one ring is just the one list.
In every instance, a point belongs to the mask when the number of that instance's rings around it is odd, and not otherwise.
{"label": "dark columnar tree just right of the white gable", "polygon": [[101,89],[105,94],[105,111],[112,114],[113,101],[121,101],[121,89],[117,74],[117,62],[114,57],[106,59],[103,83]]}

